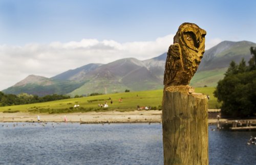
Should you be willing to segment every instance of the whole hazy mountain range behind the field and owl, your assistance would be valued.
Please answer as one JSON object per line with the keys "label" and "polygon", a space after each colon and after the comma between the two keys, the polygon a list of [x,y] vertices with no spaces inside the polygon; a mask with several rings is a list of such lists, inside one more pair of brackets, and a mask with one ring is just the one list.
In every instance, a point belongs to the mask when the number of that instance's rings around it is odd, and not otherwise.
{"label": "whole hazy mountain range behind the field and owl", "polygon": [[[190,82],[191,86],[216,86],[233,60],[237,63],[251,58],[249,41],[223,41],[206,50],[198,71]],[[125,58],[108,64],[91,63],[76,69],[46,78],[30,75],[3,92],[29,93],[45,96],[89,95],[90,93],[114,93],[129,90],[153,90],[163,88],[166,53],[152,59],[140,61]]]}

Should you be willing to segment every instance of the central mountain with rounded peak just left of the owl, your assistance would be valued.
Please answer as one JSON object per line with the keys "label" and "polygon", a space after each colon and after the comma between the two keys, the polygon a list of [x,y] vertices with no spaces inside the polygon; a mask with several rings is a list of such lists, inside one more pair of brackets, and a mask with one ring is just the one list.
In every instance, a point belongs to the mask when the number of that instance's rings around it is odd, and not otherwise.
{"label": "central mountain with rounded peak just left of the owl", "polygon": [[84,79],[90,81],[72,91],[71,96],[93,92],[123,92],[125,89],[156,89],[160,84],[160,80],[145,67],[145,64],[135,58],[120,59],[99,66]]}

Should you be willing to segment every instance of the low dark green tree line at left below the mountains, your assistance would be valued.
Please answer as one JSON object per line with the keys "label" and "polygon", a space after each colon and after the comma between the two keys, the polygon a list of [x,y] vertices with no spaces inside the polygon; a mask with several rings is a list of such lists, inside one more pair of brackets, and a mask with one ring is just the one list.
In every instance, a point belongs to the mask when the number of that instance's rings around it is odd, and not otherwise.
{"label": "low dark green tree line at left below the mountains", "polygon": [[29,95],[28,93],[20,93],[19,95],[5,94],[0,91],[0,106],[21,105],[31,103],[42,103],[55,100],[69,99],[70,96],[65,95],[46,95],[38,97],[37,95]]}

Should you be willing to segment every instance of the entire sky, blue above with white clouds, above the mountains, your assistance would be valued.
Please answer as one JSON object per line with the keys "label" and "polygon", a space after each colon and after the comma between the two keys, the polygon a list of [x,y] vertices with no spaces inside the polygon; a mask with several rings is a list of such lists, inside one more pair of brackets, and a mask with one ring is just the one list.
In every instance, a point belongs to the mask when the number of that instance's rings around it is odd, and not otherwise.
{"label": "entire sky, blue above with white clouds, above the mountains", "polygon": [[29,75],[157,57],[183,22],[206,30],[206,50],[256,43],[255,15],[254,0],[0,0],[0,90]]}

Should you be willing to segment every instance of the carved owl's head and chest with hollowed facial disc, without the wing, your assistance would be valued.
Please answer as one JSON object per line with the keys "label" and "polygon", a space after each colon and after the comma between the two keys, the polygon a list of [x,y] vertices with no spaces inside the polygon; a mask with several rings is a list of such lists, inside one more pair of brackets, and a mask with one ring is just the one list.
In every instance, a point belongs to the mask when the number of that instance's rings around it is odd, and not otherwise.
{"label": "carved owl's head and chest with hollowed facial disc, without the wing", "polygon": [[[195,23],[182,23],[176,35],[174,43],[179,43],[183,69],[197,70],[203,57],[206,31],[199,28]],[[195,70],[195,71],[196,71]]]}

